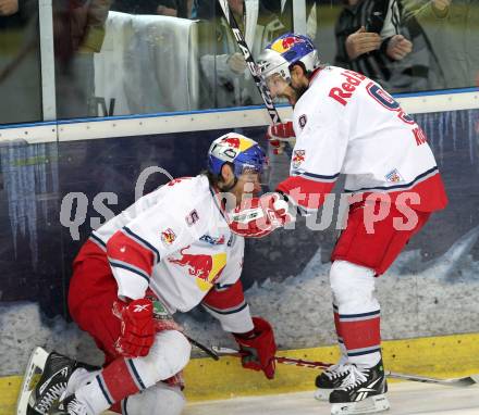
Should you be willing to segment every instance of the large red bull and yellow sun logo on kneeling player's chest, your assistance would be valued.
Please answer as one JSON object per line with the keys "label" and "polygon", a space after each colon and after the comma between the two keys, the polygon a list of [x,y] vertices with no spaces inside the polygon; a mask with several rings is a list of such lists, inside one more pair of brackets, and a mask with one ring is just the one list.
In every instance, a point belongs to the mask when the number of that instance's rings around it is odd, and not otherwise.
{"label": "large red bull and yellow sun logo on kneeling player's chest", "polygon": [[195,277],[196,285],[201,291],[208,291],[220,277],[226,265],[226,253],[221,252],[212,255],[194,254],[186,252],[191,247],[180,251],[180,257],[169,257],[168,261],[179,266],[187,267],[188,275]]}

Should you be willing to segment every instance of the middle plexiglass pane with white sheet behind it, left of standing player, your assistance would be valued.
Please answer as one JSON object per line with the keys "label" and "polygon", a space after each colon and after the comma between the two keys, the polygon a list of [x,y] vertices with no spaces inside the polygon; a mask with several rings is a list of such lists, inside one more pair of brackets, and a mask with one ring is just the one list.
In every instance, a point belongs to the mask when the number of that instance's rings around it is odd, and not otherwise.
{"label": "middle plexiglass pane with white sheet behind it, left of standing player", "polygon": [[[53,7],[59,118],[261,102],[218,1],[64,4]],[[281,1],[229,7],[254,56],[292,30]]]}

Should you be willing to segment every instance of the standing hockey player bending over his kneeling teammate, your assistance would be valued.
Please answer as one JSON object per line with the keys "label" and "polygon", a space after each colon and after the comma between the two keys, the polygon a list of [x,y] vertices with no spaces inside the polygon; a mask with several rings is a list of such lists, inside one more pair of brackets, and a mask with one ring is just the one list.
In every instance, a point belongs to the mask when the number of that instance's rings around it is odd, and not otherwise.
{"label": "standing hockey player bending over his kneeling teammate", "polygon": [[320,65],[309,38],[279,37],[258,65],[271,95],[294,106],[293,121],[267,134],[273,144],[296,137],[278,192],[299,212],[317,212],[342,173],[352,196],[330,271],[342,359],[317,378],[317,393],[329,395],[332,414],[386,410],[374,280],[447,203],[434,156],[421,128],[380,85]]}

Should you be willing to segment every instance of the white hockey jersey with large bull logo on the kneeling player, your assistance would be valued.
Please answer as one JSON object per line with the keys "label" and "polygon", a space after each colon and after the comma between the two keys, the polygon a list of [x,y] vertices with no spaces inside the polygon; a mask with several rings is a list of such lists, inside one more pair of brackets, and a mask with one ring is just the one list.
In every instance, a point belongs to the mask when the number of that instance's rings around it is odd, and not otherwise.
{"label": "white hockey jersey with large bull logo on the kneeling player", "polygon": [[[230,231],[202,175],[172,180],[140,198],[90,241],[106,252],[120,298],[143,298],[149,287],[171,313],[192,310],[213,286],[235,286],[242,273],[244,239]],[[250,329],[243,290],[228,301],[220,302],[229,309],[223,314],[235,318],[223,318],[223,328]]]}

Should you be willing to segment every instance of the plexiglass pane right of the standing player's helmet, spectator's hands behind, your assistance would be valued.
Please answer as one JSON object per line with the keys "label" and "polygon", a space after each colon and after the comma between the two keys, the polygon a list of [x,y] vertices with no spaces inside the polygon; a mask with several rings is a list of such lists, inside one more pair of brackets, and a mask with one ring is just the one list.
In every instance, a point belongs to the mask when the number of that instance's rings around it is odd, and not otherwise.
{"label": "plexiglass pane right of the standing player's helmet, spectator's hands behind", "polygon": [[326,62],[360,72],[390,92],[478,86],[477,1],[346,0],[317,7],[316,43]]}

